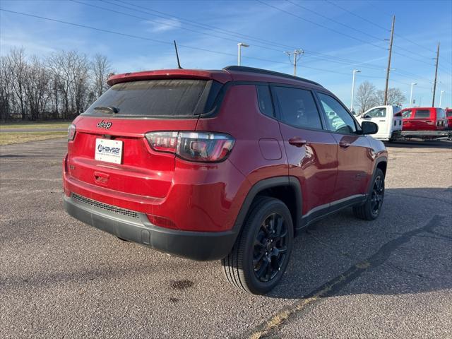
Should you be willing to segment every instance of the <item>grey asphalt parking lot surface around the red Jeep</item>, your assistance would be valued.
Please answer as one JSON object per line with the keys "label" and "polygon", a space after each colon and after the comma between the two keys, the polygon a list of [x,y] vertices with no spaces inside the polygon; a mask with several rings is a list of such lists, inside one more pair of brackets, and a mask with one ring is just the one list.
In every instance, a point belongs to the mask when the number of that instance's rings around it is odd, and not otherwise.
{"label": "grey asphalt parking lot surface around the red Jeep", "polygon": [[388,150],[380,218],[310,227],[263,297],[66,215],[64,139],[2,146],[0,338],[452,338],[452,143]]}

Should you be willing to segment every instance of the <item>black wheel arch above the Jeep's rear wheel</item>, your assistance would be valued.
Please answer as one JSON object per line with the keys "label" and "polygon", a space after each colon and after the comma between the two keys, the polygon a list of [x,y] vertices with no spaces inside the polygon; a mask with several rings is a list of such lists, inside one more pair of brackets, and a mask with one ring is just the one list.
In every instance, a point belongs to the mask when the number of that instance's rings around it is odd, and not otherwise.
{"label": "black wheel arch above the Jeep's rear wheel", "polygon": [[292,215],[294,230],[301,227],[302,187],[299,180],[295,177],[273,177],[256,182],[249,190],[234,223],[234,230],[237,231],[237,234],[240,232],[251,204],[257,196],[271,196],[283,201]]}

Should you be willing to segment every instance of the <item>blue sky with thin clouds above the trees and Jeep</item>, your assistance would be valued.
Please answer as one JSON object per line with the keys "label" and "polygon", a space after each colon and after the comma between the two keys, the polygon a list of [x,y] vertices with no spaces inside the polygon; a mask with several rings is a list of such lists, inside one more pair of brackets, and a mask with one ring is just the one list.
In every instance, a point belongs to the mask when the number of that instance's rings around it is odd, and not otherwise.
{"label": "blue sky with thin clouds above the trees and Jeep", "polygon": [[171,42],[177,40],[184,68],[221,69],[237,64],[237,42],[245,42],[250,47],[242,50],[242,65],[292,73],[283,52],[300,48],[305,53],[298,75],[318,81],[346,105],[350,105],[353,69],[361,71],[356,87],[367,80],[384,88],[385,39],[390,37],[395,14],[390,87],[400,88],[408,101],[410,83],[417,83],[416,105],[431,105],[436,44],[441,42],[436,105],[444,90],[441,106],[452,106],[452,1],[448,0],[0,0],[0,7],[143,37],[1,11],[1,54],[13,46],[42,56],[77,49],[107,55],[114,70],[124,73],[174,68]]}

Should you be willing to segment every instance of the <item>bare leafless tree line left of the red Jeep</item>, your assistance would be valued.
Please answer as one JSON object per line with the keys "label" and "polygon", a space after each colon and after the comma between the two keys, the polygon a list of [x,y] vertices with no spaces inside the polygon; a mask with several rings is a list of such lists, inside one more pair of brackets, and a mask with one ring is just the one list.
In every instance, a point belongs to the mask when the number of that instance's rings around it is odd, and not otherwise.
{"label": "bare leafless tree line left of the red Jeep", "polygon": [[13,48],[0,57],[0,121],[73,119],[107,90],[107,57],[77,51],[28,57]]}

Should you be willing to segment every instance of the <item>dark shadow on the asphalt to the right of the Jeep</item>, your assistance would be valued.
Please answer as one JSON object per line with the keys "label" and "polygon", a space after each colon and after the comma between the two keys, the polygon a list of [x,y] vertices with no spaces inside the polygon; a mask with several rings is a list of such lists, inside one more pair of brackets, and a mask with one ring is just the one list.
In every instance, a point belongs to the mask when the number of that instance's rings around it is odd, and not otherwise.
{"label": "dark shadow on the asphalt to the right of the Jeep", "polygon": [[345,210],[295,239],[269,297],[400,295],[452,288],[452,189],[386,189],[368,222]]}

